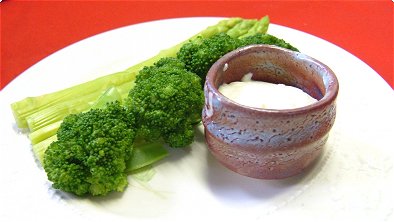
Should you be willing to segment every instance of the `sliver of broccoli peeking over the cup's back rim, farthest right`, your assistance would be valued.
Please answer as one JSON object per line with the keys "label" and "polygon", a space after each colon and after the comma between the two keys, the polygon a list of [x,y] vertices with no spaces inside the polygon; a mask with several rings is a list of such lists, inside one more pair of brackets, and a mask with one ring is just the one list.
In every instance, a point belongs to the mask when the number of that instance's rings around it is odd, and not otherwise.
{"label": "sliver of broccoli peeking over the cup's back rim, farthest right", "polygon": [[282,48],[286,48],[298,52],[298,49],[295,48],[294,46],[285,42],[283,39],[279,39],[270,34],[256,34],[256,35],[248,36],[242,38],[240,42],[241,42],[240,47],[253,45],[253,44],[268,44],[268,45],[276,45]]}

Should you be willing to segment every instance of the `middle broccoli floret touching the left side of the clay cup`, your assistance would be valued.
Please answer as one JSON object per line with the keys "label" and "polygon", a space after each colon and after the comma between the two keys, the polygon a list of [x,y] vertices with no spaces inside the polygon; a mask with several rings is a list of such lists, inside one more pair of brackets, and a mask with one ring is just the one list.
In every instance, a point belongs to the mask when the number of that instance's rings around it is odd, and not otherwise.
{"label": "middle broccoli floret touching the left side of the clay cup", "polygon": [[191,144],[193,125],[201,120],[204,104],[200,82],[176,58],[163,58],[144,67],[126,100],[126,106],[136,117],[138,138],[163,139],[170,147]]}

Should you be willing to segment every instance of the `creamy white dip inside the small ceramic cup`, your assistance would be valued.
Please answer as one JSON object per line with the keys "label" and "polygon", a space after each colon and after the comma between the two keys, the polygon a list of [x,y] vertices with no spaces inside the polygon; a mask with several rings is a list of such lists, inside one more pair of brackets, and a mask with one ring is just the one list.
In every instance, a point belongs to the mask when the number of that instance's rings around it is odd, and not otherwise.
{"label": "creamy white dip inside the small ceramic cup", "polygon": [[252,75],[248,73],[240,82],[221,85],[219,92],[239,104],[265,109],[292,109],[316,102],[296,87],[254,81]]}

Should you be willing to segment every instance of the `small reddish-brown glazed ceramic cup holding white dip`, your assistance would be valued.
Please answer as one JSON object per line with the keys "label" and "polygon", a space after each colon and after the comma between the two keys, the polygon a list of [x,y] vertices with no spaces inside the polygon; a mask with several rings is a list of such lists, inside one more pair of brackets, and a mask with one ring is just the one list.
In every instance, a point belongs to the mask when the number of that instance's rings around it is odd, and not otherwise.
{"label": "small reddish-brown glazed ceramic cup holding white dip", "polygon": [[[261,109],[219,93],[221,84],[239,81],[249,72],[254,80],[295,86],[318,101],[295,109]],[[322,153],[335,120],[338,87],[330,68],[301,53],[268,45],[230,52],[211,67],[205,82],[208,147],[219,162],[245,176],[297,175]]]}

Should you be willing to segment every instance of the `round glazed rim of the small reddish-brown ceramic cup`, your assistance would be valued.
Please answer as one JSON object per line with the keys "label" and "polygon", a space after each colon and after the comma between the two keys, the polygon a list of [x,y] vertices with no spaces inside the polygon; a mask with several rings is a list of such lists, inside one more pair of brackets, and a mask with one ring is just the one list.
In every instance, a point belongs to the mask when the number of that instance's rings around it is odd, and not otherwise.
{"label": "round glazed rim of the small reddish-brown ceramic cup", "polygon": [[[302,107],[297,107],[297,108],[290,108],[290,109],[267,109],[267,108],[257,108],[257,107],[251,107],[251,106],[246,106],[240,103],[237,103],[228,97],[224,96],[222,93],[219,92],[218,87],[215,86],[214,80],[216,78],[216,74],[220,69],[223,69],[223,66],[227,63],[227,61],[231,60],[232,58],[238,56],[238,55],[243,55],[247,54],[249,52],[256,52],[259,50],[271,50],[277,53],[282,53],[286,54],[289,57],[290,56],[295,56],[302,61],[308,61],[309,63],[313,63],[324,70],[326,70],[326,75],[327,75],[327,80],[324,81],[324,86],[326,89],[325,94],[321,99],[318,101],[302,106]],[[338,79],[335,75],[335,73],[324,63],[320,62],[319,60],[312,58],[311,56],[308,56],[304,53],[301,52],[296,52],[292,51],[289,49],[281,48],[278,46],[274,45],[267,45],[267,44],[256,44],[256,45],[249,45],[245,47],[241,47],[238,49],[235,49],[231,52],[228,52],[225,54],[223,57],[218,59],[209,69],[206,79],[205,79],[205,85],[204,88],[207,88],[209,86],[210,91],[215,94],[215,96],[220,99],[221,102],[225,103],[226,105],[230,106],[237,106],[242,109],[248,110],[249,112],[257,112],[257,113],[264,113],[264,114],[288,114],[288,115],[294,115],[298,113],[304,113],[305,111],[313,111],[313,110],[318,110],[322,107],[330,105],[333,101],[335,101],[338,91],[339,91],[339,83]],[[204,90],[206,91],[206,90]]]}

